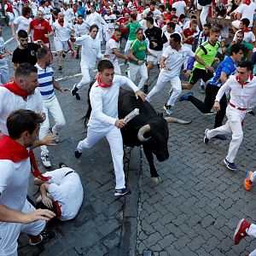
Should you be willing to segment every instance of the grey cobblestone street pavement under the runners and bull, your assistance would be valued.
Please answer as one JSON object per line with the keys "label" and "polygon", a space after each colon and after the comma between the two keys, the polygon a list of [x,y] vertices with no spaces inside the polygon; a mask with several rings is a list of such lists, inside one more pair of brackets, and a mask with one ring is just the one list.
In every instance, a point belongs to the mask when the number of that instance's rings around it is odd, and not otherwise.
{"label": "grey cobblestone street pavement under the runners and bull", "polygon": [[[4,32],[9,38],[10,32]],[[14,49],[15,42],[7,46]],[[55,65],[54,68],[56,70]],[[55,78],[60,79],[62,87],[71,89],[81,78],[79,60],[71,61],[67,56],[63,70],[56,72]],[[155,70],[150,79],[155,84]],[[168,90],[153,99],[152,104],[159,112]],[[203,98],[196,85],[193,90],[195,96]],[[162,163],[155,160],[161,183],[151,183],[144,154],[141,157],[139,150],[132,151],[133,161],[128,172],[132,194],[126,199],[117,199],[113,196],[113,166],[105,140],[84,152],[81,160],[73,157],[73,149],[85,137],[79,121],[87,108],[85,89],[81,96],[82,100],[76,101],[70,94],[57,93],[67,126],[61,131],[61,143],[50,148],[49,156],[52,169],[64,161],[79,172],[84,185],[84,203],[72,221],[49,225],[57,237],[44,247],[28,247],[26,236],[20,236],[20,255],[143,255],[149,250],[161,256],[232,256],[245,255],[245,251],[256,247],[250,238],[241,241],[239,246],[234,246],[232,241],[240,218],[255,219],[255,189],[245,192],[242,182],[247,170],[255,167],[256,117],[247,115],[245,119],[244,139],[236,158],[239,171],[230,172],[223,163],[230,137],[225,142],[212,140],[205,145],[204,131],[212,128],[214,116],[201,114],[189,102],[177,102],[174,116],[193,122],[169,125],[170,158]],[[141,172],[137,171],[139,164]],[[43,172],[44,167],[40,167]],[[35,199],[36,193],[31,180],[28,195]]]}

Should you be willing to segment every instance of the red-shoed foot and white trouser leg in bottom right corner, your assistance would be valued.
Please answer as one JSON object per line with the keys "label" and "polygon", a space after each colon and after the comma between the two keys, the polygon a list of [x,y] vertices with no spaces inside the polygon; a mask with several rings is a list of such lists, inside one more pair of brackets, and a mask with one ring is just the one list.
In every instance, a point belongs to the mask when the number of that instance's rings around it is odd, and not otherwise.
{"label": "red-shoed foot and white trouser leg in bottom right corner", "polygon": [[[256,224],[251,224],[247,222],[246,219],[242,218],[236,226],[236,231],[234,233],[234,243],[239,244],[242,238],[246,236],[256,237]],[[256,249],[253,252],[247,254],[247,256],[256,256]]]}

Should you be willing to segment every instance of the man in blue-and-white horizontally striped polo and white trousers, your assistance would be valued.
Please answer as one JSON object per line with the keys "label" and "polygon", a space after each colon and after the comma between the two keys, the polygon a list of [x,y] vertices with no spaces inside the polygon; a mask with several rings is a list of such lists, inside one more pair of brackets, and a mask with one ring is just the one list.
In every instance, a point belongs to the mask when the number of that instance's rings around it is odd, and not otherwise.
{"label": "man in blue-and-white horizontally striped polo and white trousers", "polygon": [[[38,90],[41,93],[43,100],[43,112],[45,114],[44,123],[40,126],[39,139],[47,136],[49,131],[55,134],[55,142],[59,142],[59,132],[66,125],[61,106],[55,96],[55,89],[61,92],[69,91],[67,88],[61,88],[61,85],[55,81],[52,67],[49,67],[51,61],[50,50],[47,46],[38,49],[38,63],[35,67],[38,68]],[[49,128],[49,113],[55,120],[55,125]],[[43,166],[50,168],[49,150],[47,147],[41,146],[41,160]]]}

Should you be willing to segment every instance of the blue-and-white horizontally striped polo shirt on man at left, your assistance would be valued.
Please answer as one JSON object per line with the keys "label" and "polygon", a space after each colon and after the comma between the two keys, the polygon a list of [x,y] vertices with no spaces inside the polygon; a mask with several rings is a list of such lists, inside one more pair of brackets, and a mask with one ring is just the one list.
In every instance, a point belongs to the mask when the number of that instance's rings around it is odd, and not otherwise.
{"label": "blue-and-white horizontally striped polo shirt on man at left", "polygon": [[45,69],[35,65],[38,68],[38,90],[40,91],[43,100],[47,100],[55,95],[54,86],[52,80],[54,78],[54,72],[52,67],[46,67]]}

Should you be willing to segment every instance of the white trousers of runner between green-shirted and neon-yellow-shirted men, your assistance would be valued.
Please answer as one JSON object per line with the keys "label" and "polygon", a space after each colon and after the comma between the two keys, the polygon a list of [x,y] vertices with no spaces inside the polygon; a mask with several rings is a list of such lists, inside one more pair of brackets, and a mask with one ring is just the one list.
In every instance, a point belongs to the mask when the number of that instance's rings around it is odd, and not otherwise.
{"label": "white trousers of runner between green-shirted and neon-yellow-shirted men", "polygon": [[156,84],[154,85],[154,88],[152,90],[150,90],[150,92],[148,93],[147,96],[147,101],[151,102],[151,98],[157,94],[158,92],[160,92],[160,90],[166,86],[166,84],[171,84],[173,91],[172,91],[172,95],[170,96],[167,105],[171,105],[174,106],[174,103],[177,100],[177,97],[181,94],[182,92],[182,87],[181,87],[181,81],[179,79],[178,76],[173,76],[170,77],[168,76],[166,73],[168,73],[168,71],[162,69],[160,71],[159,77],[157,79]]}

